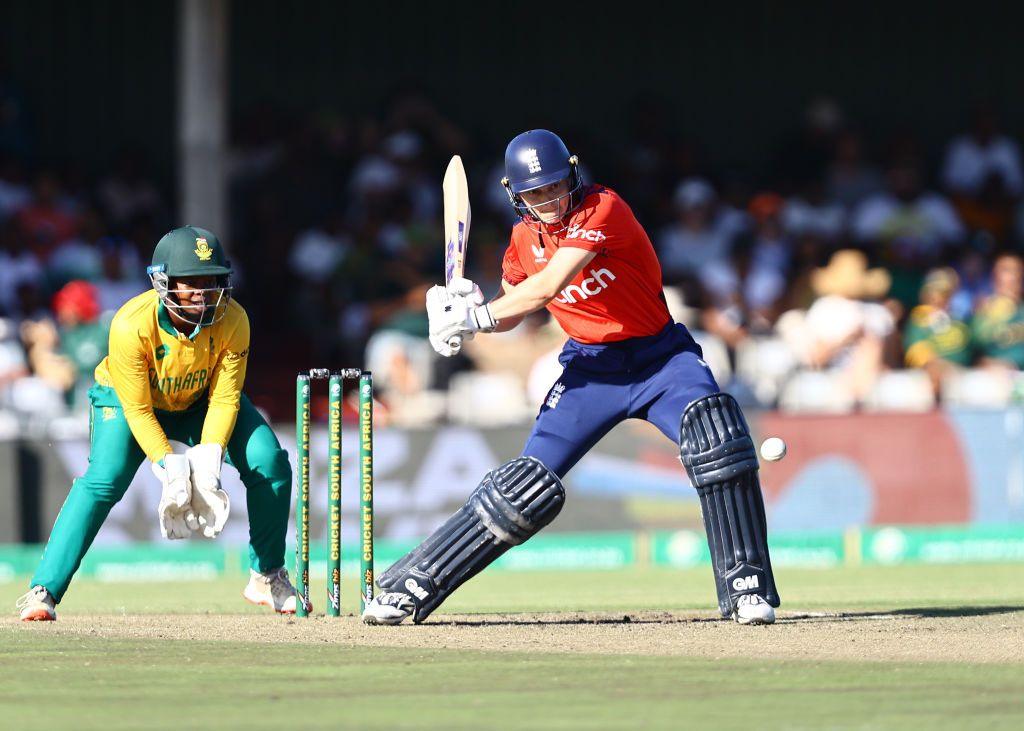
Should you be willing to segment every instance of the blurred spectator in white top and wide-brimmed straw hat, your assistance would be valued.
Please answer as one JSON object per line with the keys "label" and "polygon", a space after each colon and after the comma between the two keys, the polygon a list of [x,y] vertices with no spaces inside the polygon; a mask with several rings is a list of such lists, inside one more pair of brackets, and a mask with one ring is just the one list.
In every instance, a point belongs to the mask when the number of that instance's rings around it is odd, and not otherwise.
{"label": "blurred spectator in white top and wide-brimmed straw hat", "polygon": [[806,313],[787,312],[778,331],[807,368],[833,371],[857,401],[870,391],[885,368],[886,341],[895,319],[878,300],[889,291],[889,273],[867,268],[867,257],[852,249],[836,252],[815,269],[818,296]]}

